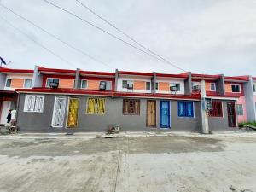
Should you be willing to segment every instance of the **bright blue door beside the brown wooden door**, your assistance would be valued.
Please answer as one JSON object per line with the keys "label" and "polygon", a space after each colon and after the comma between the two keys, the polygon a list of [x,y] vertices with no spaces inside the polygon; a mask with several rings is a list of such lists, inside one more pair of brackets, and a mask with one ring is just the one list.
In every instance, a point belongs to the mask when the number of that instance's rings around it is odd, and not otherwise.
{"label": "bright blue door beside the brown wooden door", "polygon": [[160,101],[160,127],[170,128],[170,102]]}

